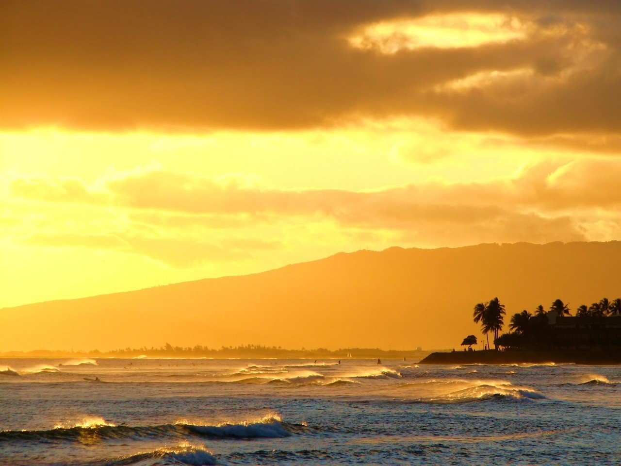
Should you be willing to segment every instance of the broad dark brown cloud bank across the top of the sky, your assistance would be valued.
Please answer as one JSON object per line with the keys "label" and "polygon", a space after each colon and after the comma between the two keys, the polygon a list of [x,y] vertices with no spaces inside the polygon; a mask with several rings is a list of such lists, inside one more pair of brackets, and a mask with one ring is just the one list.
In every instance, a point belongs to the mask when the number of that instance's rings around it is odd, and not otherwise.
{"label": "broad dark brown cloud bank across the top of the sky", "polygon": [[[269,130],[411,115],[529,137],[621,132],[614,1],[5,0],[0,10],[5,129]],[[507,14],[530,29],[394,54],[347,40],[365,24],[449,12]],[[447,87],[519,69],[531,73]]]}

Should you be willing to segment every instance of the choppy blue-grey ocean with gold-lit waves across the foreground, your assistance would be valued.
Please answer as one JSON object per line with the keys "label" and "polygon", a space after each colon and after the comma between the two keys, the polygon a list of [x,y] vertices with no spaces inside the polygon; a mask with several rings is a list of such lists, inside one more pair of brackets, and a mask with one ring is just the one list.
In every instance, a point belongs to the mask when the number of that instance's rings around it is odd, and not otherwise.
{"label": "choppy blue-grey ocean with gold-lit waves across the foreground", "polygon": [[617,465],[620,415],[620,367],[0,360],[2,465]]}

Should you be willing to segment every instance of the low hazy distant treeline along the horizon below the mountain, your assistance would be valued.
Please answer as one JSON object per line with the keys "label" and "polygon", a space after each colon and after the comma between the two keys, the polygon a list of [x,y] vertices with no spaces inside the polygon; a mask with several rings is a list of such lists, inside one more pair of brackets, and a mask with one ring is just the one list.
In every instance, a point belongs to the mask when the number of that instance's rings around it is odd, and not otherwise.
{"label": "low hazy distant treeline along the horizon below the mountain", "polygon": [[61,357],[116,357],[116,358],[240,358],[240,359],[366,359],[366,358],[386,358],[386,359],[422,359],[432,351],[422,348],[410,350],[383,350],[378,348],[344,348],[329,350],[325,348],[317,349],[284,349],[276,346],[263,345],[241,345],[223,346],[220,349],[213,349],[207,346],[195,345],[193,347],[173,346],[166,343],[164,346],[125,348],[112,351],[58,351],[58,350],[34,350],[34,351],[11,351],[4,352],[1,357],[30,357],[30,358],[61,358]]}

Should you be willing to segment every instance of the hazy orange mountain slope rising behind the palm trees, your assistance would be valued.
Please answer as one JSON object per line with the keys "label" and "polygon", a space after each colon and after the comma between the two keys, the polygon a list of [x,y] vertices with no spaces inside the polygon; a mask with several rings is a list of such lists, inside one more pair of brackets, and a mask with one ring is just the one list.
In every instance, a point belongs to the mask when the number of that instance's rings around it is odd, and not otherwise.
{"label": "hazy orange mountain slope rising behind the palm trees", "polygon": [[21,342],[26,333],[47,349],[458,347],[478,334],[475,303],[499,296],[511,314],[556,298],[572,309],[617,298],[619,264],[618,241],[341,253],[255,275],[1,309],[0,350],[32,349]]}

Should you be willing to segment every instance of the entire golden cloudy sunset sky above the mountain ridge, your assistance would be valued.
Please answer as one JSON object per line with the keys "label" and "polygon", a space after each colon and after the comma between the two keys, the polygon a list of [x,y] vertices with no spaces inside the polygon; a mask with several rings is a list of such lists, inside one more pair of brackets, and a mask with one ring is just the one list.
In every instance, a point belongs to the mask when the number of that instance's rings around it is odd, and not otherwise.
{"label": "entire golden cloudy sunset sky above the mountain ridge", "polygon": [[4,0],[0,307],[621,238],[621,3]]}

